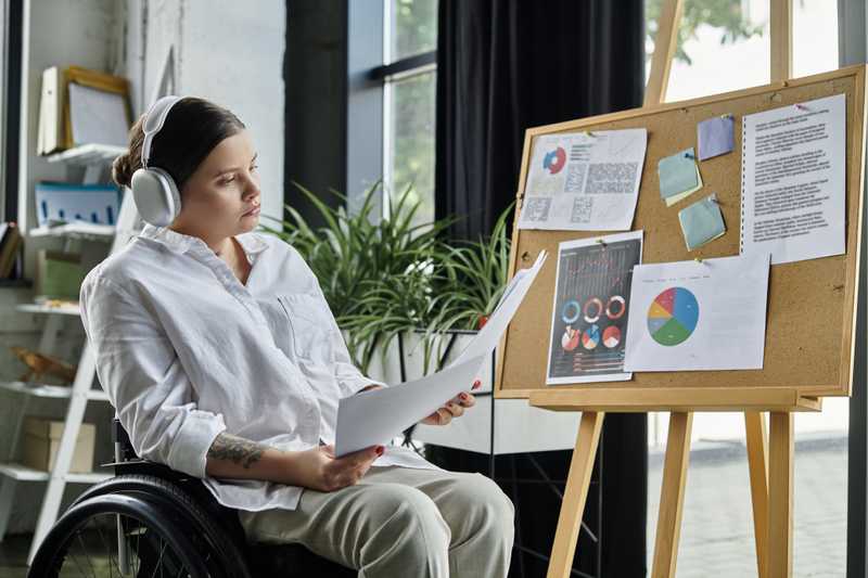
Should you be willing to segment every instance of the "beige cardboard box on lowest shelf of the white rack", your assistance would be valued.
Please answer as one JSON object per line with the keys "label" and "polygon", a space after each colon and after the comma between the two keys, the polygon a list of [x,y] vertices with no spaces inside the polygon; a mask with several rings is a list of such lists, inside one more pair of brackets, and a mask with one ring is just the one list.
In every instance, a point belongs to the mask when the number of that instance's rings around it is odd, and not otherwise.
{"label": "beige cardboard box on lowest shelf of the white rack", "polygon": [[[34,470],[50,472],[58,459],[61,446],[63,422],[43,418],[27,416],[24,420],[24,465]],[[69,472],[87,474],[93,471],[93,446],[97,438],[97,427],[93,424],[82,423],[78,431],[78,439],[73,451],[73,461]]]}

